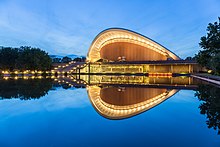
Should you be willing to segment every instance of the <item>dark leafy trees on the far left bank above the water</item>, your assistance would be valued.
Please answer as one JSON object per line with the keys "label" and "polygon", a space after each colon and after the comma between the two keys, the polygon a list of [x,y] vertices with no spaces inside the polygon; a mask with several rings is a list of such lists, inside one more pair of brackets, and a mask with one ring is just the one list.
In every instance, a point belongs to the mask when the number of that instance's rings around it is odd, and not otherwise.
{"label": "dark leafy trees on the far left bank above the water", "polygon": [[42,70],[51,68],[48,53],[30,46],[0,47],[0,70]]}

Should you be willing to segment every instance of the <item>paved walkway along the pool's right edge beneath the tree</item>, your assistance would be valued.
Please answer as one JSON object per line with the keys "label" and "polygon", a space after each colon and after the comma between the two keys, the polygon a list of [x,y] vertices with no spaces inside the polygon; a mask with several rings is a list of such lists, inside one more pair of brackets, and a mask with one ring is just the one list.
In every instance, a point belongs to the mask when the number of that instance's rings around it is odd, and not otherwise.
{"label": "paved walkway along the pool's right edge beneath the tree", "polygon": [[191,75],[191,76],[194,77],[194,78],[198,78],[198,79],[213,83],[213,84],[220,85],[220,77],[219,76],[202,75],[202,74],[201,75],[200,74]]}

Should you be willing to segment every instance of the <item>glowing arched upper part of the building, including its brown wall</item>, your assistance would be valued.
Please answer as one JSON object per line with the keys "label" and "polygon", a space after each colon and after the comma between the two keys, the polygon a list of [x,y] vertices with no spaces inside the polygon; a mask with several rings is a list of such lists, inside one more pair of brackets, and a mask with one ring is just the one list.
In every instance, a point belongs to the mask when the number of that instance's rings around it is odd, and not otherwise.
{"label": "glowing arched upper part of the building, including its brown wall", "polygon": [[[124,49],[124,53],[122,51],[117,52],[117,49],[120,48]],[[140,60],[166,60],[167,58],[180,60],[173,52],[150,38],[121,28],[110,28],[99,33],[89,48],[87,60],[96,62],[102,59],[102,57],[109,56],[109,54],[116,54],[115,56],[117,56],[125,53],[128,54],[129,51],[130,55],[135,56],[131,57],[130,61],[134,58],[137,58],[135,59],[136,61],[139,60],[138,58]],[[114,59],[113,57],[109,58]]]}

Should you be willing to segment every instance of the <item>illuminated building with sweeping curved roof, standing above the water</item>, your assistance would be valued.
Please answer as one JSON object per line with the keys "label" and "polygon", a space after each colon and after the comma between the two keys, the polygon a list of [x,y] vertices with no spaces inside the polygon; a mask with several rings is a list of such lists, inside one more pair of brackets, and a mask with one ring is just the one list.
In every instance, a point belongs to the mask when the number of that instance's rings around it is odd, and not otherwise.
{"label": "illuminated building with sweeping curved roof, standing above the water", "polygon": [[93,40],[87,55],[88,66],[82,73],[169,74],[193,73],[194,61],[182,60],[161,44],[139,33],[110,28]]}

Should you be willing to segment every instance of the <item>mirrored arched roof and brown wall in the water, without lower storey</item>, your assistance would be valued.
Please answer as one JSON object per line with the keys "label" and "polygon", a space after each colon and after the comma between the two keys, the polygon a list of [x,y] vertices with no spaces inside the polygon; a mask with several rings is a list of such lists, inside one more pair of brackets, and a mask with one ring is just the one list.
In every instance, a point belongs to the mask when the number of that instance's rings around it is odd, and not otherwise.
{"label": "mirrored arched roof and brown wall in the water, without lower storey", "polygon": [[88,86],[88,95],[99,114],[109,119],[123,119],[162,103],[178,90],[146,87]]}

